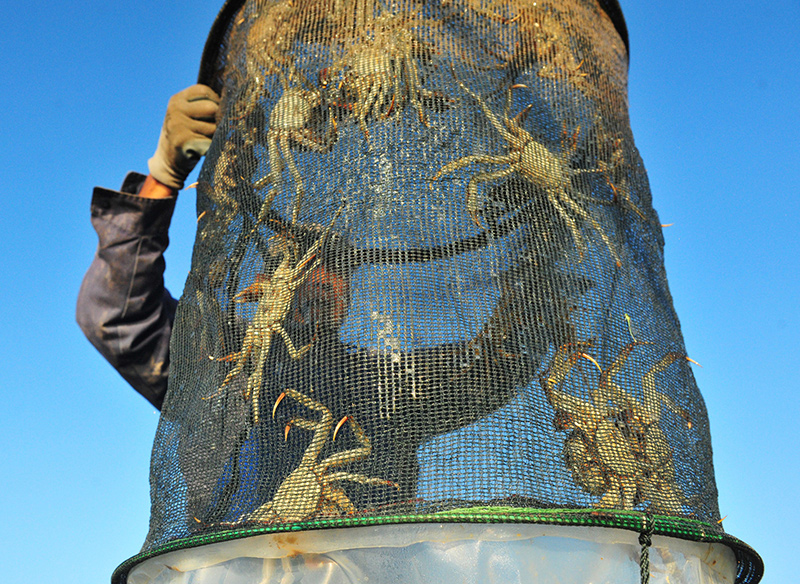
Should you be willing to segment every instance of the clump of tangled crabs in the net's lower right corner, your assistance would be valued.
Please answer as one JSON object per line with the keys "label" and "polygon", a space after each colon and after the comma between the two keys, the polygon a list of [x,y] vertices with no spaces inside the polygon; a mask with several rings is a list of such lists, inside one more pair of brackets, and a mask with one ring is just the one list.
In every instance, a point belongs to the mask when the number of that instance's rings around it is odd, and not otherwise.
{"label": "clump of tangled crabs in the net's lower right corner", "polygon": [[590,400],[559,389],[579,359],[597,365],[585,352],[589,343],[562,346],[542,387],[556,411],[556,429],[567,432],[562,450],[567,468],[579,487],[600,497],[598,507],[630,510],[647,501],[653,512],[681,515],[685,497],[676,483],[672,449],[658,425],[661,406],[683,418],[689,428],[691,422],[685,410],[655,388],[655,378],[684,356],[667,353],[650,368],[642,378],[640,402],[614,383],[614,377],[642,344],[647,343],[629,343],[611,367],[600,369]]}

